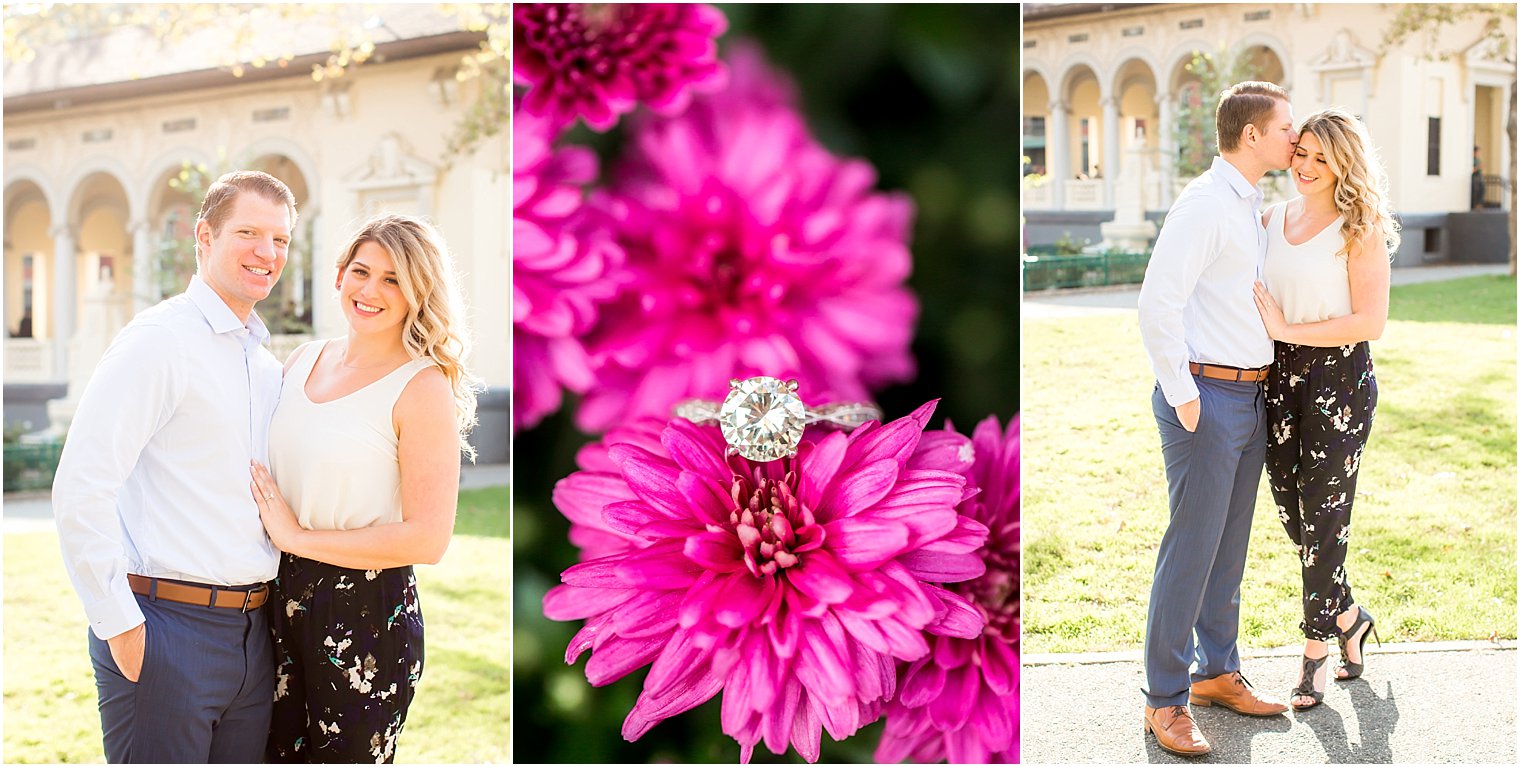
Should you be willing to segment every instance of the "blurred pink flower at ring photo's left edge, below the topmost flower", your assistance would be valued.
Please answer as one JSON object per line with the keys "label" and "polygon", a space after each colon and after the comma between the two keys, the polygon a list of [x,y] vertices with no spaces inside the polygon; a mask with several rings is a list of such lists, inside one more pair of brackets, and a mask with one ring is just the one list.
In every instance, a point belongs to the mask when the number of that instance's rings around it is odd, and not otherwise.
{"label": "blurred pink flower at ring photo's left edge, below the topmost flower", "polygon": [[617,293],[623,251],[581,187],[596,178],[588,149],[553,149],[556,131],[512,118],[512,425],[559,409],[561,389],[594,381],[581,336]]}

